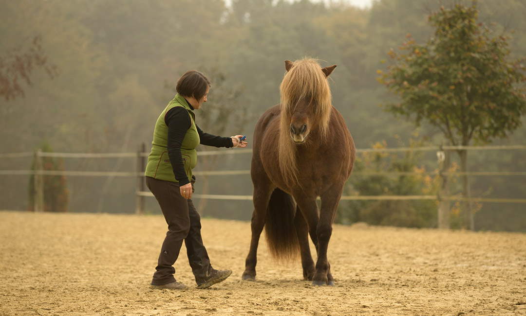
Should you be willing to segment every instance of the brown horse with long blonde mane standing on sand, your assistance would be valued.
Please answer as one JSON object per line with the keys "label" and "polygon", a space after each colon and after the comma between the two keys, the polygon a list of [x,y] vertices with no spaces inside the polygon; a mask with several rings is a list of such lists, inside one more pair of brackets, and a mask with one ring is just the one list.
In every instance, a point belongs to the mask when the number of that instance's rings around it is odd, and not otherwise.
{"label": "brown horse with long blonde mane standing on sand", "polygon": [[[254,213],[245,280],[256,278],[257,247],[265,227],[272,255],[291,258],[299,246],[304,279],[313,285],[334,285],[327,247],[356,154],[349,129],[331,103],[327,77],[335,68],[321,68],[311,58],[286,60],[281,104],[268,109],[256,124],[250,168]],[[309,235],[318,253],[316,266]]]}

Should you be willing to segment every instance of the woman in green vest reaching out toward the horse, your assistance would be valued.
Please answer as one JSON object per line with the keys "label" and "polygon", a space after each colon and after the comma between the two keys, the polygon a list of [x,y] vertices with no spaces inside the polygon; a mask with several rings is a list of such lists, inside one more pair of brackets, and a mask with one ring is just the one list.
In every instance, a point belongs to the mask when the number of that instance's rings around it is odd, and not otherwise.
{"label": "woman in green vest reaching out toward the horse", "polygon": [[210,80],[196,70],[185,72],[177,81],[177,94],[161,112],[154,129],[154,140],[146,165],[146,185],[154,194],[168,224],[151,286],[156,289],[185,289],[174,278],[173,267],[185,241],[188,261],[197,288],[206,289],[228,278],[231,270],[216,270],[201,238],[201,222],[194,203],[198,144],[244,148],[241,135],[220,137],[201,131],[194,110],[207,100]]}

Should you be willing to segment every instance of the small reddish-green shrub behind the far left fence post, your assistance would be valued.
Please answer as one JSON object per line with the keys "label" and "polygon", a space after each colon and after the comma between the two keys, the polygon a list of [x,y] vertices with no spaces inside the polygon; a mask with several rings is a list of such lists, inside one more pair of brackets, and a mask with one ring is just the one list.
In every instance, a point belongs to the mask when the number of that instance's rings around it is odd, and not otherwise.
{"label": "small reddish-green shrub behind the far left fence post", "polygon": [[[42,152],[53,152],[48,142],[44,142],[40,148]],[[45,171],[63,171],[64,161],[58,159],[55,161],[53,157],[42,157],[42,167]],[[31,170],[35,170],[36,160],[33,159]],[[44,175],[44,211],[45,212],[67,212],[69,191],[66,187],[66,176],[64,175]],[[35,176],[29,177],[28,185],[28,210],[34,209],[35,196]]]}

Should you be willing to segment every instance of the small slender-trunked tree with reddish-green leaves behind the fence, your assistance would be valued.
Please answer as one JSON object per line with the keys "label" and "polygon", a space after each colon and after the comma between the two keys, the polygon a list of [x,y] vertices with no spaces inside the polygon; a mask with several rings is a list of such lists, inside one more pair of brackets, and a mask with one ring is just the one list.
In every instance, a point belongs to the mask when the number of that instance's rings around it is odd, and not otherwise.
{"label": "small slender-trunked tree with reddish-green leaves behind the fence", "polygon": [[[520,127],[526,111],[522,60],[509,60],[509,37],[495,35],[477,18],[476,2],[441,7],[429,17],[434,36],[424,45],[409,38],[400,47],[407,52],[391,50],[395,64],[379,78],[401,99],[386,104],[388,111],[417,125],[427,121],[452,145],[504,138]],[[457,152],[461,172],[467,172],[467,151]],[[462,183],[469,197],[466,174]],[[464,211],[465,227],[474,229],[469,203]]]}

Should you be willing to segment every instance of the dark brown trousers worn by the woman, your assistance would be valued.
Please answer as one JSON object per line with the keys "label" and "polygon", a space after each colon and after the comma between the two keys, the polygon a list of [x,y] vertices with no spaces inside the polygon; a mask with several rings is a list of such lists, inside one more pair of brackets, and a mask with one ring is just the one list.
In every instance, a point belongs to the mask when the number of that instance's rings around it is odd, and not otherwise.
{"label": "dark brown trousers worn by the woman", "polygon": [[[146,177],[146,186],[154,194],[168,224],[163,246],[157,260],[152,285],[174,282],[173,265],[185,241],[188,262],[198,280],[207,276],[212,269],[203,238],[201,238],[201,217],[191,199],[185,199],[179,191],[179,183]],[[192,191],[194,185],[192,184]]]}

